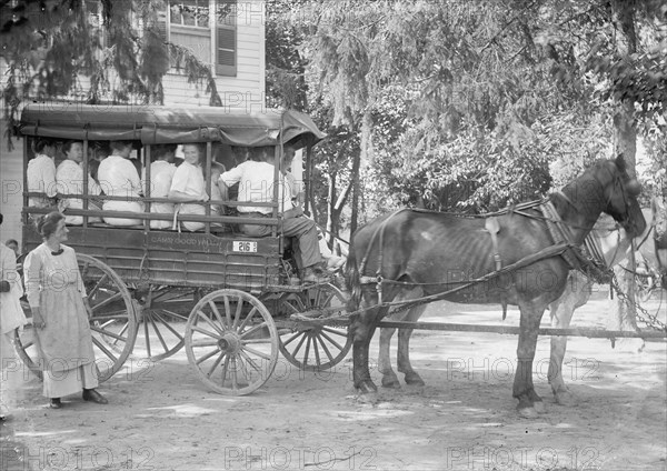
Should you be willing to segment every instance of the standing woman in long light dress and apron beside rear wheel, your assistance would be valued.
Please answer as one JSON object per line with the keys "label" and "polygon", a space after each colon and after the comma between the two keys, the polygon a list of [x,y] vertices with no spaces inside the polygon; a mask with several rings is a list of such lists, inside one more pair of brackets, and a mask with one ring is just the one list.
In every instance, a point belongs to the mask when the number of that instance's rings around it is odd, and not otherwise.
{"label": "standing woman in long light dress and apron beside rear wheel", "polygon": [[77,254],[62,242],[68,229],[64,216],[53,211],[37,223],[43,243],[26,258],[24,277],[32,310],[43,394],[60,409],[60,398],[83,390],[83,400],[106,404],[96,391],[98,369],[88,322],[88,298]]}

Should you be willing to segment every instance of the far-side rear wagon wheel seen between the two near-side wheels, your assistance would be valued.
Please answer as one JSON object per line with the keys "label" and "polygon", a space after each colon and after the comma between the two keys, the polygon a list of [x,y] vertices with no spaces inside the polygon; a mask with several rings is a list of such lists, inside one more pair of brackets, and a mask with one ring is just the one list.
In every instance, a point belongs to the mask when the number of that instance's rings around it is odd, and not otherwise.
{"label": "far-side rear wagon wheel seen between the two near-side wheels", "polygon": [[179,351],[185,343],[186,323],[199,300],[198,288],[150,285],[138,299],[137,342],[133,355],[160,361]]}

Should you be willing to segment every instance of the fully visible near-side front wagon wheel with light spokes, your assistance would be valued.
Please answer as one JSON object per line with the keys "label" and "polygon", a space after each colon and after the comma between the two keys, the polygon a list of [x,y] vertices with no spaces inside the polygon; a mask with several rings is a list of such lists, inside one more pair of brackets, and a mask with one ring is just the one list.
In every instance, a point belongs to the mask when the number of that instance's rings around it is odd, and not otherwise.
{"label": "fully visible near-side front wagon wheel with light spokes", "polygon": [[278,361],[278,330],[268,309],[239,290],[218,290],[192,309],[188,361],[213,391],[243,395],[260,388]]}

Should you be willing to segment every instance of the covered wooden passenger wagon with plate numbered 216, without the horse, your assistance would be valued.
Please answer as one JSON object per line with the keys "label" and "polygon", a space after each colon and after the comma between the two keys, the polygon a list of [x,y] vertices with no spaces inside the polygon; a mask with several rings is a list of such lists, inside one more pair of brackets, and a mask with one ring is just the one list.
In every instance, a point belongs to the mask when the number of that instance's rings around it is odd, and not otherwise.
{"label": "covered wooden passenger wagon with plate numbered 216, without the horse", "polygon": [[[24,168],[36,138],[81,141],[83,156],[107,141],[131,140],[133,161],[146,169],[146,181],[150,181],[156,144],[205,143],[202,169],[209,194],[213,167],[229,170],[241,151],[267,146],[275,148],[277,162],[286,144],[303,150],[307,186],[311,148],[325,137],[308,116],[296,111],[77,103],[28,106],[19,131],[26,138]],[[90,163],[83,160],[87,174]],[[282,170],[276,166],[275,181]],[[345,329],[290,319],[295,313],[342,305],[345,298],[334,284],[303,284],[295,277],[289,241],[278,231],[278,186],[273,202],[252,203],[272,210],[269,218],[257,219],[235,213],[243,202],[233,200],[202,203],[203,216],[150,212],[151,204],[168,200],[152,198],[146,183],[142,213],[93,209],[94,197],[83,180],[82,194],[59,193],[58,198],[82,201],[82,209],[66,210],[82,217],[80,226],[68,226],[67,244],[77,251],[92,308],[90,325],[101,381],[119,371],[130,355],[157,361],[185,345],[189,363],[207,387],[222,394],[247,394],[270,378],[279,352],[296,368],[322,370],[349,351]],[[30,221],[51,209],[30,207],[30,197],[44,193],[28,191],[27,178],[23,188],[22,247],[28,252],[41,243]],[[109,217],[140,219],[140,223],[98,222]],[[173,229],[152,229],[155,220],[170,221]],[[200,222],[203,229],[180,230],[187,221]],[[272,231],[250,238],[238,232],[239,223],[261,223]],[[14,341],[24,363],[39,375],[30,325],[17,331]]]}

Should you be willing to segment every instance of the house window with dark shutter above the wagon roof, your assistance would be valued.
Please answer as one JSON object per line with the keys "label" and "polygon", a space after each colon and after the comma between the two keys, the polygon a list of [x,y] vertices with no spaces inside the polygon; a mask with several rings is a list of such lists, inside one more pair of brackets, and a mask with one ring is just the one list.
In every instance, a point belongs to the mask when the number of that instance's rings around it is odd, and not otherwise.
{"label": "house window with dark shutter above the wagon roof", "polygon": [[159,30],[186,47],[218,76],[237,73],[237,0],[169,0]]}

